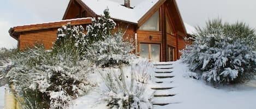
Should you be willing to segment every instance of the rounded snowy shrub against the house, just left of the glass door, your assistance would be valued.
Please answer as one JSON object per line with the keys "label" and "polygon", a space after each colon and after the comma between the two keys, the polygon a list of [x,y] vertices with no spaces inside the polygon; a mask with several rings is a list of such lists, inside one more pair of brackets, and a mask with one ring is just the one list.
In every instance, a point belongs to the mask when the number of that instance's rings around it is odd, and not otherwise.
{"label": "rounded snowy shrub against the house, just left of the glass door", "polygon": [[129,63],[135,56],[133,50],[132,40],[123,39],[123,33],[118,32],[88,46],[85,57],[100,66],[120,65]]}

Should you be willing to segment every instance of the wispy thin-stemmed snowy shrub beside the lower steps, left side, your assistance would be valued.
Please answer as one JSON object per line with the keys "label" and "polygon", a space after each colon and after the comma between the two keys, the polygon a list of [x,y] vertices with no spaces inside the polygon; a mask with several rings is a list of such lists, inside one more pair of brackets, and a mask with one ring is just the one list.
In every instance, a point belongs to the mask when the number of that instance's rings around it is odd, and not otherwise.
{"label": "wispy thin-stemmed snowy shrub beside the lower steps, left side", "polygon": [[[151,76],[144,68],[109,69],[102,73],[106,87],[103,88],[103,97],[111,109],[150,109],[152,108],[153,91],[147,85]],[[129,72],[130,71],[130,72]],[[144,79],[136,77],[144,75]]]}

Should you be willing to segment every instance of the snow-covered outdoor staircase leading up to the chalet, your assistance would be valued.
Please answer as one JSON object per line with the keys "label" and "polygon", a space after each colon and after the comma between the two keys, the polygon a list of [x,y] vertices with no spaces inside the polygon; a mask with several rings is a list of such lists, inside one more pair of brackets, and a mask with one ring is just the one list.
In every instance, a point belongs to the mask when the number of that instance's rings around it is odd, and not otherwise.
{"label": "snow-covered outdoor staircase leading up to the chalet", "polygon": [[171,62],[156,62],[153,63],[154,67],[154,77],[153,85],[151,89],[154,89],[156,92],[153,97],[153,106],[164,106],[168,104],[177,104],[180,103],[177,101],[175,96],[177,92],[175,91],[173,67]]}

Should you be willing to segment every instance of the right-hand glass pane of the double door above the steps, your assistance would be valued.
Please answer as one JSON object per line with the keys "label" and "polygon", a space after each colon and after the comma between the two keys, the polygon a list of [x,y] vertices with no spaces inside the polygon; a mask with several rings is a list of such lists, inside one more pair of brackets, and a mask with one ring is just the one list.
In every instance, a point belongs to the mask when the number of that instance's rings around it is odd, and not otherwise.
{"label": "right-hand glass pane of the double door above the steps", "polygon": [[159,44],[151,44],[151,62],[160,61]]}

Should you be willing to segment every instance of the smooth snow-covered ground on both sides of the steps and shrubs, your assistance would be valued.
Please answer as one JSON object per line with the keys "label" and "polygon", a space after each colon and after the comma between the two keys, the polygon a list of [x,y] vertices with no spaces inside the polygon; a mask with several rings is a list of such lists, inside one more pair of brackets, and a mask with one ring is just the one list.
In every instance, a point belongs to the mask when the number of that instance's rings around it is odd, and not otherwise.
{"label": "smooth snow-covered ground on both sides of the steps and shrubs", "polygon": [[[248,85],[236,85],[213,88],[204,81],[184,78],[189,73],[186,65],[180,61],[172,62],[174,66],[175,98],[180,104],[170,104],[164,108],[178,109],[253,109],[256,108],[256,87]],[[255,83],[254,83],[255,85]],[[93,92],[95,93],[95,92]],[[96,105],[98,97],[93,93],[75,100],[75,109],[80,108],[106,108],[104,104]],[[155,109],[163,108],[154,106]]]}

